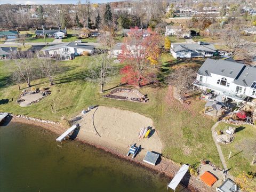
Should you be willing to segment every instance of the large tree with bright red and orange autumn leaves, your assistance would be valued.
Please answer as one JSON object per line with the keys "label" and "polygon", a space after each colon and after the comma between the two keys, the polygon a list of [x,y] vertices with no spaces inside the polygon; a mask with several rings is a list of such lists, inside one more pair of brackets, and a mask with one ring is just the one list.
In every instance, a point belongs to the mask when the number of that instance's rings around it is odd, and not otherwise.
{"label": "large tree with bright red and orange autumn leaves", "polygon": [[153,49],[156,50],[154,46],[158,43],[154,35],[157,34],[150,32],[150,36],[143,38],[142,30],[134,27],[124,38],[122,53],[119,55],[119,59],[127,64],[120,70],[122,83],[141,87],[156,82],[155,72],[150,68],[151,61],[155,62],[153,60],[159,57],[152,52]]}

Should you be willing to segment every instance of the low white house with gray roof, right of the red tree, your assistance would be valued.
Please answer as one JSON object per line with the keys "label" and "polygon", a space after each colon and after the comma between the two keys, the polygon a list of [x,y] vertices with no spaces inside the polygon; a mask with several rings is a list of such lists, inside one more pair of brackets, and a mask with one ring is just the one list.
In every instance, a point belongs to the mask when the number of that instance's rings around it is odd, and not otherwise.
{"label": "low white house with gray roof, right of the red tree", "polygon": [[201,45],[198,43],[172,44],[171,53],[175,59],[190,59],[198,57],[213,57],[218,51],[213,45]]}

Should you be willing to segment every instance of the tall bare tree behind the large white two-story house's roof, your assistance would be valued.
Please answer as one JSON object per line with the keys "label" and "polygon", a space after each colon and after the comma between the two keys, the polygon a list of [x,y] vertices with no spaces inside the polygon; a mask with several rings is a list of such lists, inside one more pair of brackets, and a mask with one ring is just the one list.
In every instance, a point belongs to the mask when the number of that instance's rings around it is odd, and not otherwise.
{"label": "tall bare tree behind the large white two-story house's roof", "polygon": [[222,39],[232,58],[236,55],[242,55],[249,50],[247,48],[252,46],[250,42],[243,39],[242,31],[242,27],[235,21],[231,21],[230,24],[226,25],[226,28],[223,29]]}

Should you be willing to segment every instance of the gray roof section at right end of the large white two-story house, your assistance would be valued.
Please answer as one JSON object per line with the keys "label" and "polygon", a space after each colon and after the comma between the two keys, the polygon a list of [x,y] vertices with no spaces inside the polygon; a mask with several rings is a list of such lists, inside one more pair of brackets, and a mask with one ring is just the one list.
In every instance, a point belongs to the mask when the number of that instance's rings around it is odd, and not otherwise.
{"label": "gray roof section at right end of the large white two-story house", "polygon": [[235,79],[234,83],[241,86],[251,86],[256,82],[256,67],[245,66],[242,73]]}

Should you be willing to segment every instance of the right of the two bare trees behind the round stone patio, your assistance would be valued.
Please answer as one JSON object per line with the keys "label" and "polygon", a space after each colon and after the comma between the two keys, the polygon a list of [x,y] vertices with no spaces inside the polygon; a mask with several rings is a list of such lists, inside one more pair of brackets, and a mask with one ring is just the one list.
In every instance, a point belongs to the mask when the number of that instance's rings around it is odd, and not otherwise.
{"label": "right of the two bare trees behind the round stone patio", "polygon": [[56,57],[55,60],[42,58],[37,59],[38,67],[41,70],[42,74],[45,75],[52,86],[54,84],[55,74],[59,71],[59,57]]}

